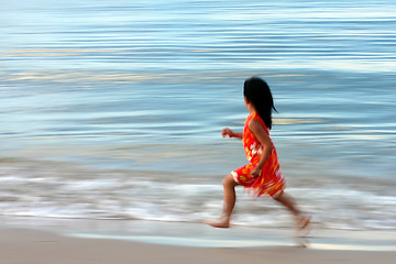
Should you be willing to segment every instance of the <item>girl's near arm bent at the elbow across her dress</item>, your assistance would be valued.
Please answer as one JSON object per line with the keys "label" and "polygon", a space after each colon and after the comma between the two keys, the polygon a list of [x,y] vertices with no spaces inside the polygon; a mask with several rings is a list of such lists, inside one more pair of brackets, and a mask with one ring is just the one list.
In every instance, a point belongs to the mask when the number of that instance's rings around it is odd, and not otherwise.
{"label": "girl's near arm bent at the elbow across her dress", "polygon": [[272,150],[274,148],[274,145],[270,135],[257,120],[252,119],[249,122],[249,129],[253,132],[263,146],[263,155],[261,156],[256,167],[251,172],[253,177],[258,177],[261,169],[263,168],[265,162],[268,160],[272,153]]}

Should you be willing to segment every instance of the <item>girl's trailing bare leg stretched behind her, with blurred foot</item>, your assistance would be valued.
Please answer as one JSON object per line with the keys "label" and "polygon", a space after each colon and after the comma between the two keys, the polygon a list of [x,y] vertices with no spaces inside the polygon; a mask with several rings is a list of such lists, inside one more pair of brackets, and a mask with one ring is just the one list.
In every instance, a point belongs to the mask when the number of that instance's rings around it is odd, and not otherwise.
{"label": "girl's trailing bare leg stretched behind her, with blurred foot", "polygon": [[[285,206],[296,218],[297,221],[297,231],[299,232],[298,237],[304,237],[309,232],[308,226],[310,222],[310,216],[302,213],[295,201],[295,199],[286,194],[283,193],[279,197],[274,198],[276,201],[280,202],[283,206]],[[302,232],[301,232],[302,231]]]}

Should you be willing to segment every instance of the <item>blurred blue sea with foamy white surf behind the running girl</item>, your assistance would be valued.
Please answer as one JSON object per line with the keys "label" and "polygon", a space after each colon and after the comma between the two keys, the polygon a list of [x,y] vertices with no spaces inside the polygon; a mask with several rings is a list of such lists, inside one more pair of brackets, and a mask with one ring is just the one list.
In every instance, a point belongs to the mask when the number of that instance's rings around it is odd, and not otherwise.
{"label": "blurred blue sea with foamy white surf behind the running girl", "polygon": [[[396,229],[396,2],[0,0],[0,217],[201,222],[270,84],[287,191],[327,229]],[[238,189],[233,223],[292,227]]]}

